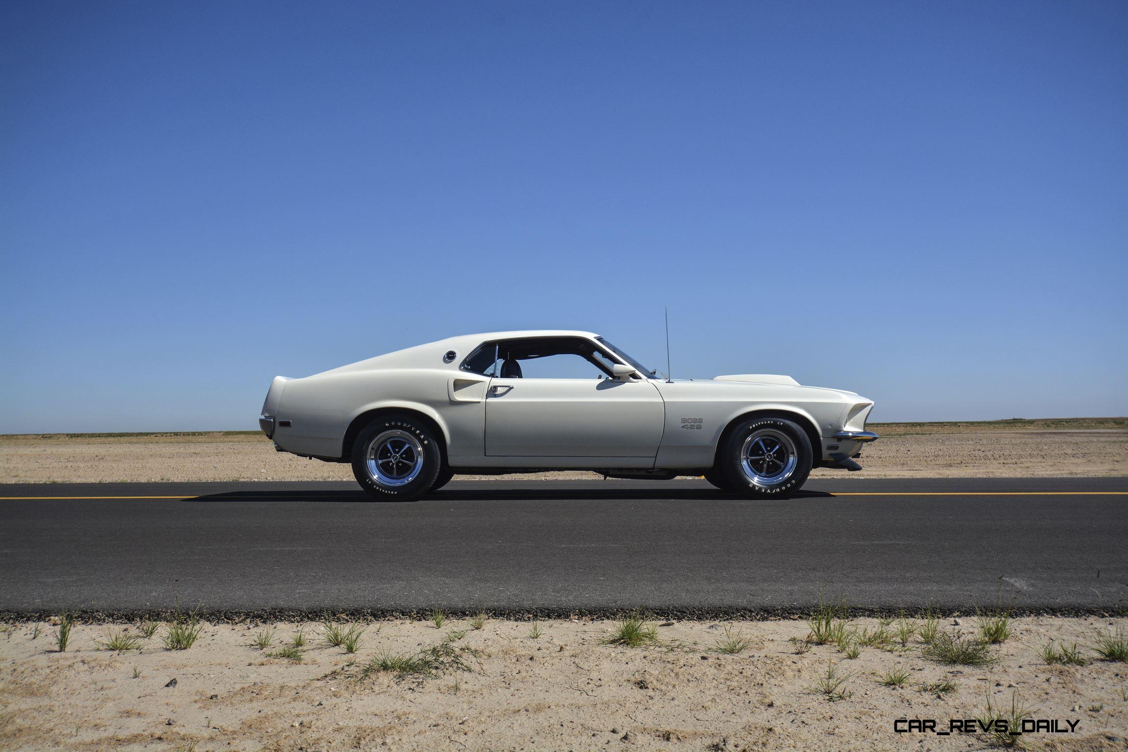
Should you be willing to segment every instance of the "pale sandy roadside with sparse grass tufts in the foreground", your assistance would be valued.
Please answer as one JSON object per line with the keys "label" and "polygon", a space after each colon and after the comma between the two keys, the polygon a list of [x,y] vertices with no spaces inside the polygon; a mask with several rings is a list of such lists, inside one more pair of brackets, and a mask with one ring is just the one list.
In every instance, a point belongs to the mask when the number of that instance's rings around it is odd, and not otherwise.
{"label": "pale sandy roadside with sparse grass tufts in the foreground", "polygon": [[[975,618],[941,630],[970,634]],[[919,623],[919,622],[916,622]],[[323,644],[320,625],[276,625],[264,653],[259,625],[210,625],[182,652],[160,635],[140,652],[98,649],[121,625],[78,625],[67,653],[53,652],[54,627],[9,626],[0,638],[0,747],[5,750],[967,750],[981,735],[897,734],[898,718],[981,714],[989,696],[1012,696],[1033,718],[1078,722],[1072,734],[1024,738],[1052,750],[1128,749],[1128,664],[1094,660],[1047,665],[1048,639],[1090,645],[1126,621],[1024,618],[992,648],[987,667],[949,666],[906,647],[863,648],[854,660],[832,645],[800,653],[790,638],[804,621],[678,622],[659,627],[652,647],[605,644],[613,621],[538,622],[388,620],[369,623],[354,655]],[[728,626],[747,649],[714,649]],[[896,627],[893,622],[892,627]],[[872,619],[853,627],[878,628]],[[138,626],[125,627],[139,634]],[[301,629],[301,663],[268,657]],[[461,635],[465,632],[465,635]],[[416,653],[450,640],[466,670],[433,676],[365,675],[373,656]],[[828,666],[848,674],[828,700],[817,689]],[[880,679],[904,670],[902,688]],[[168,684],[175,680],[175,685]],[[923,691],[950,680],[954,691]],[[195,745],[195,746],[193,746]]]}

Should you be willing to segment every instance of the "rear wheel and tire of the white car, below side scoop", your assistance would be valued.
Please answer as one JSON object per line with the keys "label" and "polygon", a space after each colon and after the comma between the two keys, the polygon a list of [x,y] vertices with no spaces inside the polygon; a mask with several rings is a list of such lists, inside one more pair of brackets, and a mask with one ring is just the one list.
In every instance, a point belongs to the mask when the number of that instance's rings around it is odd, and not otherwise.
{"label": "rear wheel and tire of the white car, below side scoop", "polygon": [[432,430],[408,415],[389,415],[364,426],[353,442],[356,483],[381,502],[409,502],[434,485],[442,450]]}

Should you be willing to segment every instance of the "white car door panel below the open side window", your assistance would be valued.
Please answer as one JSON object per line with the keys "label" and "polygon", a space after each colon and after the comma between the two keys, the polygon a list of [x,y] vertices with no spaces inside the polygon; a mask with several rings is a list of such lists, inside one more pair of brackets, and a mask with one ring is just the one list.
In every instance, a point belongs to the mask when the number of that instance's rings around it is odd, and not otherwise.
{"label": "white car door panel below the open side window", "polygon": [[650,380],[496,377],[486,392],[486,455],[652,458],[664,421]]}

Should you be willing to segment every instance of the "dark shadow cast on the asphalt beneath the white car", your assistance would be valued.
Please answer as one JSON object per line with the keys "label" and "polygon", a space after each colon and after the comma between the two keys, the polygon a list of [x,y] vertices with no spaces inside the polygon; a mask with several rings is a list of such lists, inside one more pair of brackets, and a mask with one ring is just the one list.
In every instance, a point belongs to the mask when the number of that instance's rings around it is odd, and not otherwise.
{"label": "dark shadow cast on the asphalt beneath the white car", "polygon": [[[800,490],[792,495],[791,501],[804,498],[830,498],[832,494],[821,490]],[[607,488],[607,489],[536,489],[536,488],[505,488],[505,489],[459,489],[444,488],[433,494],[428,494],[407,504],[426,504],[428,502],[547,502],[547,501],[702,501],[702,502],[747,502],[747,501],[774,501],[774,499],[749,499],[737,494],[730,494],[716,489],[654,489],[646,490],[640,488]],[[362,490],[303,490],[303,492],[268,492],[268,490],[237,490],[226,494],[209,494],[187,498],[188,502],[372,502],[368,494]],[[382,499],[381,499],[382,501]],[[393,499],[389,499],[393,501]],[[787,501],[787,499],[779,499]]]}

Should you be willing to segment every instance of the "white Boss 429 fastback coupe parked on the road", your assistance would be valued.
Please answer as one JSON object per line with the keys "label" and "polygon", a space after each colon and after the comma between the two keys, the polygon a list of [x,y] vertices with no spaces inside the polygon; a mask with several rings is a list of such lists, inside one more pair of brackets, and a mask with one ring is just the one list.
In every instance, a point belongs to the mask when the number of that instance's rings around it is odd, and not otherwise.
{"label": "white Boss 429 fastback coupe parked on the road", "polygon": [[865,431],[872,408],[783,375],[671,381],[598,335],[543,330],[276,377],[258,423],[279,451],[352,463],[379,499],[416,498],[457,472],[558,469],[704,475],[746,496],[787,497],[813,467],[861,469],[852,458],[878,437]]}

